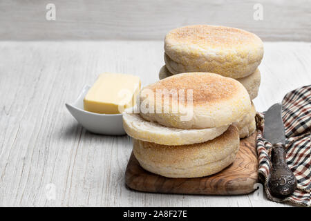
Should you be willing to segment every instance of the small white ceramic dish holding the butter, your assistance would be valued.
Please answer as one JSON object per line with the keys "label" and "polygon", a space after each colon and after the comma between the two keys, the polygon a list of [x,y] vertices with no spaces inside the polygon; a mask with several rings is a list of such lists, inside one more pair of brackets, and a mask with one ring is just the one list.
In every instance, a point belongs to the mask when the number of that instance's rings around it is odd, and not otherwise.
{"label": "small white ceramic dish holding the butter", "polygon": [[84,111],[83,99],[91,86],[84,86],[73,104],[66,103],[68,111],[86,130],[103,135],[125,135],[122,114],[106,115]]}

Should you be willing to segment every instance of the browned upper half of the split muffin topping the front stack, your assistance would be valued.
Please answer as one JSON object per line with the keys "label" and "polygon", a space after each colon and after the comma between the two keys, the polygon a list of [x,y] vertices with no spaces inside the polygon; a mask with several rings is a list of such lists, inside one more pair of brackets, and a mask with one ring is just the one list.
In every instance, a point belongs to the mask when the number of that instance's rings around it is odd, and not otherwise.
{"label": "browned upper half of the split muffin topping the front stack", "polygon": [[[156,93],[158,90],[163,94]],[[174,90],[175,95],[170,95]],[[162,95],[169,96],[169,104]],[[241,120],[252,108],[247,90],[240,82],[213,73],[182,73],[167,77],[144,87],[139,99],[139,103],[149,109],[140,108],[142,118],[180,129],[229,125]]]}

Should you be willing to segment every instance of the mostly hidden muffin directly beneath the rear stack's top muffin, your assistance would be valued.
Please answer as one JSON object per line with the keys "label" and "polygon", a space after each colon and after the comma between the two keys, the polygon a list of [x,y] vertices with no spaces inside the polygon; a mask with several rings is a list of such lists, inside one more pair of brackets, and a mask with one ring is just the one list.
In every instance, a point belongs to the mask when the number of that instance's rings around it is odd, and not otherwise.
{"label": "mostly hidden muffin directly beneath the rear stack's top muffin", "polygon": [[[167,66],[162,66],[159,72],[159,79],[164,79],[166,77],[170,77],[173,74],[169,72],[167,69]],[[239,81],[245,89],[247,90],[247,93],[249,94],[250,99],[255,99],[258,95],[259,86],[261,84],[261,73],[258,70],[258,68],[255,70],[252,75],[248,75],[246,77],[238,78],[236,79]]]}

